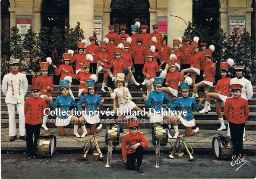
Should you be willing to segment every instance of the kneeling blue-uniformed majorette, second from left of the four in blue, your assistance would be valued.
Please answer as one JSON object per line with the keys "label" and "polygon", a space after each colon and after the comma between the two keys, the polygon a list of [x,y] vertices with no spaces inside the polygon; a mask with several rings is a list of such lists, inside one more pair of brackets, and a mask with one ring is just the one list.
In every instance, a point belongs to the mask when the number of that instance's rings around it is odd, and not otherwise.
{"label": "kneeling blue-uniformed majorette, second from left of the four in blue", "polygon": [[[100,124],[97,128],[97,123],[100,123],[100,115],[99,111],[104,103],[104,99],[101,99],[101,96],[96,94],[95,81],[87,80],[86,85],[88,86],[88,94],[85,94],[82,99],[77,102],[78,110],[82,111],[82,103],[85,103],[85,111],[86,115],[82,115],[79,117],[79,120],[85,120],[89,124],[91,124],[90,134],[98,133],[101,130],[102,124]],[[94,112],[93,115],[89,112]],[[90,116],[92,115],[92,116]],[[82,127],[85,129],[85,126]],[[86,131],[86,130],[85,130]],[[81,136],[85,137],[85,136]]]}

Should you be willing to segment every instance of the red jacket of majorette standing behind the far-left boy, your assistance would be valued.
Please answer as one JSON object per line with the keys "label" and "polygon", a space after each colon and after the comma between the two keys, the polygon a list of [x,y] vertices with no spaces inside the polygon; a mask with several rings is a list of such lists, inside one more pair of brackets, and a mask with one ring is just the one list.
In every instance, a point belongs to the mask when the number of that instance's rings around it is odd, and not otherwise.
{"label": "red jacket of majorette standing behind the far-left boy", "polygon": [[[54,85],[52,83],[51,77],[41,75],[39,77],[32,78],[32,84],[41,86],[41,93],[51,97],[51,91],[54,90]],[[51,90],[48,90],[47,86],[50,86]],[[46,93],[44,91],[46,91]]]}

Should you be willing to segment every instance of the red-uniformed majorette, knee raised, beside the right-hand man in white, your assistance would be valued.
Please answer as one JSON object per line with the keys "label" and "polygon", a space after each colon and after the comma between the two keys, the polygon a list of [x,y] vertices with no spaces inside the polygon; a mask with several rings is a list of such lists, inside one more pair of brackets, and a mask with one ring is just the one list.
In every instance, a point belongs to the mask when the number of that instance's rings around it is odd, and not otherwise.
{"label": "red-uniformed majorette, knee raised, beside the right-hand man in white", "polygon": [[221,124],[221,127],[218,128],[218,131],[225,130],[225,124],[223,120],[223,116],[221,114],[221,103],[226,102],[226,99],[230,97],[229,94],[229,86],[230,86],[230,77],[227,77],[228,75],[228,69],[229,65],[233,65],[234,60],[228,59],[227,62],[221,62],[220,63],[220,74],[221,79],[218,80],[216,86],[215,86],[215,93],[206,93],[206,100],[205,100],[205,106],[204,108],[199,111],[199,113],[207,113],[208,111],[211,111],[210,102],[211,98],[216,100],[215,106],[216,106],[216,112],[218,115],[219,123]]}

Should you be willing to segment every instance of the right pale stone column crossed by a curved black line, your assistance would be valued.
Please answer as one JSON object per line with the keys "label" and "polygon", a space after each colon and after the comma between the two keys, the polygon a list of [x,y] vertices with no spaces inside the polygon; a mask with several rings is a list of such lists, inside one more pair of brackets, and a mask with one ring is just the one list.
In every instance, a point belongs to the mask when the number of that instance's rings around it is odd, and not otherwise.
{"label": "right pale stone column crossed by a curved black line", "polygon": [[[173,39],[181,37],[186,29],[186,23],[192,22],[193,0],[168,0],[168,45],[173,46]],[[174,16],[178,16],[185,22]]]}

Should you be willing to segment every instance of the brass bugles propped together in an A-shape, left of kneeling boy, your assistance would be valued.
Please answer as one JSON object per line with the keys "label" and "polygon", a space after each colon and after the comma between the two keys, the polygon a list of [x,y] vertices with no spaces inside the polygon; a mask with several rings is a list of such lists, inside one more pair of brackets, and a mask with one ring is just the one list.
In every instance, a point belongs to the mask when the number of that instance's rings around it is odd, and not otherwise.
{"label": "brass bugles propped together in an A-shape, left of kneeling boy", "polygon": [[99,161],[103,160],[105,157],[101,153],[101,149],[100,149],[100,147],[98,145],[98,141],[97,141],[97,138],[95,136],[95,133],[90,137],[90,139],[84,145],[84,150],[83,150],[84,151],[84,155],[83,155],[83,158],[85,160],[87,160],[86,157],[87,157],[87,154],[88,154],[90,148],[92,147],[92,143],[95,144],[95,148],[96,148],[95,151],[92,152],[92,154],[93,155],[99,155],[100,156]]}

